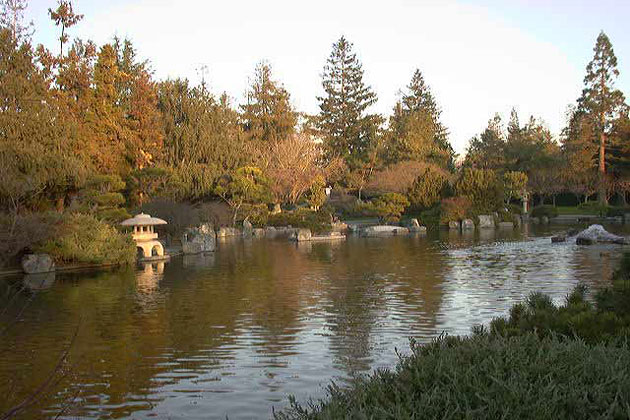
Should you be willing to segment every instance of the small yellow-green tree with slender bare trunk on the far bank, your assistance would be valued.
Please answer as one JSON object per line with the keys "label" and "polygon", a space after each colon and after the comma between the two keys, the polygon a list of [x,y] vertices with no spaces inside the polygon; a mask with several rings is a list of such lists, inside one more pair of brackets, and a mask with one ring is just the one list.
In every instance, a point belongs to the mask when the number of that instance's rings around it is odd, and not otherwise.
{"label": "small yellow-green tree with slender bare trunk on the far bank", "polygon": [[[247,204],[264,203],[269,198],[268,181],[259,168],[244,166],[221,177],[215,193],[232,208],[232,226]],[[244,215],[247,219],[248,215]]]}

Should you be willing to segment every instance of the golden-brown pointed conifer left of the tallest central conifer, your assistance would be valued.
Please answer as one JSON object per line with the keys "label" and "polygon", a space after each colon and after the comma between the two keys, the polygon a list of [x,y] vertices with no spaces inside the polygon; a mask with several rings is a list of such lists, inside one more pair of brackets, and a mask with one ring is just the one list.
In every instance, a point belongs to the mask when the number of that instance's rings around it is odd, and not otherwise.
{"label": "golden-brown pointed conifer left of the tallest central conifer", "polygon": [[276,142],[295,132],[297,113],[291,106],[289,93],[273,80],[268,63],[256,66],[246,98],[241,118],[243,130],[251,140]]}

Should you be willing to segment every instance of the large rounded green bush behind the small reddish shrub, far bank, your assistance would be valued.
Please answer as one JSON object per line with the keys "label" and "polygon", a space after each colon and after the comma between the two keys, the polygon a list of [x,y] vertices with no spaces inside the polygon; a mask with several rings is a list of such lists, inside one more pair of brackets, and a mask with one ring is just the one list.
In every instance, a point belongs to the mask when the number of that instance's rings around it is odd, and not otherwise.
{"label": "large rounded green bush behind the small reddish shrub, far bank", "polygon": [[503,204],[503,185],[491,169],[464,168],[455,193],[469,197],[477,214],[491,213]]}

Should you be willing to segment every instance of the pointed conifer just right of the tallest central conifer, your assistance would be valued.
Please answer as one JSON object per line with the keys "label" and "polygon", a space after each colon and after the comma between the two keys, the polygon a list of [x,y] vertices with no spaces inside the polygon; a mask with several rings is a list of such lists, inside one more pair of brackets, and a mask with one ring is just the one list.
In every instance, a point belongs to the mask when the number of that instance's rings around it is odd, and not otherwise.
{"label": "pointed conifer just right of the tallest central conifer", "polygon": [[416,70],[390,117],[387,160],[432,161],[452,168],[455,153],[448,142],[448,130],[440,121],[441,114],[422,73]]}

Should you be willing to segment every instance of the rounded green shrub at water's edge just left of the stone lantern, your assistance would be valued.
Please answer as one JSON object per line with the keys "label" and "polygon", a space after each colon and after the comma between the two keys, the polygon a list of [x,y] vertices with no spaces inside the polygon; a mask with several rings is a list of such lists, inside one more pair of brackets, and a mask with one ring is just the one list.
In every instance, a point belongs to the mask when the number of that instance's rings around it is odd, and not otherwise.
{"label": "rounded green shrub at water's edge just left of the stone lantern", "polygon": [[131,264],[136,258],[131,235],[85,214],[64,217],[39,251],[64,263]]}

